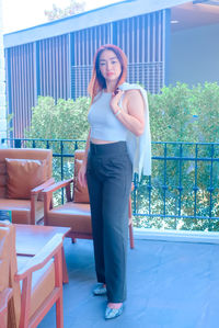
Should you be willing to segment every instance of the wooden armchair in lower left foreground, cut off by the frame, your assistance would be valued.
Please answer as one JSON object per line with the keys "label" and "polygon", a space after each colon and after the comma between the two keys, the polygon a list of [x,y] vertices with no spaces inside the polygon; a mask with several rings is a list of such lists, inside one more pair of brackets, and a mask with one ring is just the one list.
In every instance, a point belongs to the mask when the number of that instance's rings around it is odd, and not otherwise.
{"label": "wooden armchair in lower left foreground, cut off by the frame", "polygon": [[[2,281],[2,291],[0,293],[0,327],[5,327],[8,315],[8,325],[13,328],[35,328],[42,321],[54,304],[56,304],[56,327],[64,328],[64,306],[62,306],[62,238],[64,235],[56,234],[43,246],[35,256],[25,256],[25,261],[18,270],[18,260],[23,256],[16,255],[15,249],[15,226],[9,222],[0,222],[2,236],[8,236],[7,252],[9,261],[4,260],[1,268],[2,276],[9,276],[8,282]],[[5,234],[7,233],[7,234]],[[34,240],[33,240],[34,242]],[[5,252],[5,250],[4,250]],[[5,258],[5,257],[4,257]],[[3,258],[3,259],[4,259]],[[53,260],[51,260],[53,259]],[[23,261],[23,259],[22,259]],[[21,264],[22,262],[20,262]],[[41,285],[45,279],[53,279],[46,293],[32,294],[33,273],[43,269],[35,287]],[[48,273],[47,278],[46,274]],[[22,287],[20,283],[22,282]],[[46,280],[44,281],[46,283]],[[33,295],[33,297],[32,297]],[[37,295],[37,298],[36,298]],[[34,298],[35,297],[35,298]],[[11,299],[10,299],[11,298]],[[36,302],[36,303],[34,303]]]}

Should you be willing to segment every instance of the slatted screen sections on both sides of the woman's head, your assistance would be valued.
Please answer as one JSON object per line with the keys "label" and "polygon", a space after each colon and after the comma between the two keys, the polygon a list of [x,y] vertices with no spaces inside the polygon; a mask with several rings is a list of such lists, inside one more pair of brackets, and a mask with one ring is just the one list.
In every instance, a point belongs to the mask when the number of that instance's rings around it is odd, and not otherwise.
{"label": "slatted screen sections on both sides of the woman's head", "polygon": [[164,24],[165,11],[158,11],[73,33],[71,97],[88,95],[93,55],[106,43],[114,43],[126,53],[128,82],[139,82],[151,93],[160,92],[164,86]]}

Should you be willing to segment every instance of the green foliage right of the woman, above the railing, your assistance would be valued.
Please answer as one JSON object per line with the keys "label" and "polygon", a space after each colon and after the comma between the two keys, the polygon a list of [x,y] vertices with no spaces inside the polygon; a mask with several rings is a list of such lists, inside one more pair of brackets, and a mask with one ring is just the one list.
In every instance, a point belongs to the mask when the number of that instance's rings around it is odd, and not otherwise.
{"label": "green foliage right of the woman, above the railing", "polygon": [[185,83],[149,94],[154,142],[219,142],[219,84],[206,82],[192,89]]}

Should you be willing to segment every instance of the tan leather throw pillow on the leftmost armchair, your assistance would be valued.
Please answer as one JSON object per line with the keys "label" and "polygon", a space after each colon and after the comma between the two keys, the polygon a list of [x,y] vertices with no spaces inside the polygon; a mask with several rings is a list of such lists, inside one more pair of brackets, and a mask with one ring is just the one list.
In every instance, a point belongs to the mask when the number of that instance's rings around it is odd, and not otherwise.
{"label": "tan leather throw pillow on the leftmost armchair", "polygon": [[46,161],[5,158],[7,196],[30,200],[31,190],[46,181]]}

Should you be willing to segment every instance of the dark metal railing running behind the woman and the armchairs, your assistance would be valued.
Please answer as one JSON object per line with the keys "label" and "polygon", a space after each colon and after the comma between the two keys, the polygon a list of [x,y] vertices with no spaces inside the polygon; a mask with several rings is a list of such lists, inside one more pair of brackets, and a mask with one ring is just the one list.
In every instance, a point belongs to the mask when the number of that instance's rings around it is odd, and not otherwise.
{"label": "dark metal railing running behind the woman and the armchairs", "polygon": [[[84,140],[2,139],[10,147],[53,149],[54,177],[73,174],[76,149]],[[165,229],[219,230],[219,143],[152,143],[152,176],[134,177],[135,225]]]}

